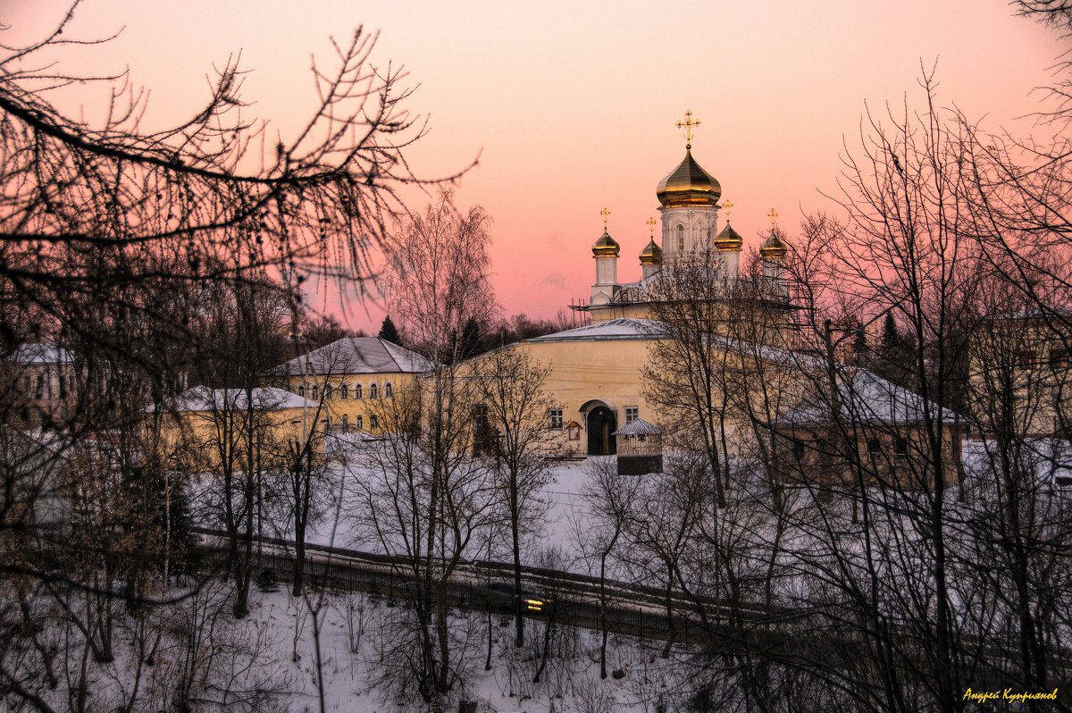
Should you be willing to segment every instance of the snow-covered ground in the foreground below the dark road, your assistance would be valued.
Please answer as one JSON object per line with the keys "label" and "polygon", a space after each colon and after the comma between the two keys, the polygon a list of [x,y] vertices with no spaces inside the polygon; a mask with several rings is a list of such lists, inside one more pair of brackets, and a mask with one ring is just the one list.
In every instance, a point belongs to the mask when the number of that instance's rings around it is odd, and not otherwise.
{"label": "snow-covered ground in the foreground below the dark road", "polygon": [[345,713],[457,711],[462,700],[481,713],[649,713],[669,692],[685,690],[683,659],[661,658],[657,644],[628,638],[611,638],[608,673],[613,674],[600,680],[597,637],[563,626],[554,629],[541,681],[534,683],[544,623],[531,622],[526,645],[516,649],[506,620],[455,612],[451,658],[462,675],[442,708],[433,709],[413,692],[406,665],[393,678],[384,677],[391,664],[385,664],[386,652],[412,625],[404,606],[361,593],[292,597],[285,590],[254,590],[249,617],[236,621],[228,586],[209,583],[148,619],[117,608],[115,659],[87,662],[77,647],[61,649],[66,660],[53,662],[61,683],[42,688],[43,700],[68,710],[68,692],[79,687],[79,674],[86,677],[86,710],[101,713],[313,712],[319,710],[322,689],[325,710]]}

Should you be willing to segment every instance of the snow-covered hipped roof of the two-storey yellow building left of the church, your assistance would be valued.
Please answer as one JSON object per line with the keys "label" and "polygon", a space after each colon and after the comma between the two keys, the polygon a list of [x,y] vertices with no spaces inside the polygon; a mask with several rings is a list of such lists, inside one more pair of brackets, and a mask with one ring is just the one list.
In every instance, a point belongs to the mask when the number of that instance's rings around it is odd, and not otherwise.
{"label": "snow-covered hipped roof of the two-storey yellow building left of the church", "polygon": [[345,337],[280,365],[273,373],[287,376],[326,374],[421,373],[432,362],[416,352],[378,337]]}

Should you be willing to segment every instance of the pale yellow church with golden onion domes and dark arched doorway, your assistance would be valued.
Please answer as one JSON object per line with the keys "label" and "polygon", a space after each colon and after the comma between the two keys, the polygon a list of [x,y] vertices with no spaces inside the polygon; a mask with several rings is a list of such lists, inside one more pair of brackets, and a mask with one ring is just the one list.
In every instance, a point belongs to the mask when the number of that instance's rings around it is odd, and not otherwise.
{"label": "pale yellow church with golden onion domes and dark arched doorway", "polygon": [[[679,125],[690,139],[697,123],[687,114]],[[725,287],[718,309],[725,310],[727,320],[732,317],[734,300],[747,294],[774,325],[772,338],[784,340],[791,309],[783,274],[787,248],[772,227],[759,250],[759,269],[743,271],[743,238],[728,220],[719,229],[719,212],[732,204],[719,203],[721,185],[694,158],[691,148],[686,145],[684,159],[656,187],[660,220],[647,221],[651,237],[639,255],[639,279],[620,280],[621,246],[607,229],[605,208],[604,233],[592,246],[591,296],[586,304],[574,307],[586,312],[591,324],[515,347],[550,365],[545,388],[555,406],[548,415],[549,427],[562,429],[568,448],[578,455],[614,454],[617,429],[638,418],[659,422],[660,415],[644,397],[643,370],[651,345],[665,338],[659,317],[667,313],[665,286],[675,279],[675,270],[697,265],[712,270],[712,279]]]}

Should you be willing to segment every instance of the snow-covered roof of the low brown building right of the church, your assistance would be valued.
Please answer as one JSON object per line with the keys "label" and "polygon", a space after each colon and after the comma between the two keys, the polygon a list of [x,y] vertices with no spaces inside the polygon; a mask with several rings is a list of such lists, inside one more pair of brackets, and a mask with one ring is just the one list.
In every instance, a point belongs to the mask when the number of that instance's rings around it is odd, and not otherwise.
{"label": "snow-covered roof of the low brown building right of the church", "polygon": [[[904,387],[864,369],[838,367],[838,397],[842,417],[857,424],[920,424],[929,410],[938,418],[936,404]],[[813,393],[774,421],[775,426],[829,424],[831,404],[825,392]],[[950,424],[955,414],[941,409],[941,420]]]}

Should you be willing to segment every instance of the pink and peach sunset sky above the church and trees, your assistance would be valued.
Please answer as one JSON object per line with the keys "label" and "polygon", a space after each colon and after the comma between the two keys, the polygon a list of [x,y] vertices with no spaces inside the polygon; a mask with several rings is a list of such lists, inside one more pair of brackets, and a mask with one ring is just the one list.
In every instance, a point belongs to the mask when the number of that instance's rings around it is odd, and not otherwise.
{"label": "pink and peach sunset sky above the church and trees", "polygon": [[[55,21],[66,3],[0,0],[0,40]],[[430,133],[416,173],[449,175],[479,155],[458,203],[493,218],[494,284],[506,314],[550,316],[586,297],[590,247],[611,210],[619,277],[639,277],[655,185],[684,154],[674,122],[702,122],[694,155],[732,200],[746,249],[773,207],[791,237],[803,212],[836,212],[839,155],[859,145],[870,107],[922,106],[921,62],[937,62],[939,101],[992,129],[1032,130],[1032,88],[1067,47],[1014,17],[1002,0],[935,2],[281,2],[86,0],[73,30],[120,36],[63,56],[70,71],[117,72],[152,91],[148,119],[198,107],[213,63],[241,51],[252,70],[248,114],[284,136],[314,101],[310,57],[363,25],[379,32],[374,62],[404,65],[408,102]],[[93,101],[86,113],[92,118]],[[429,198],[416,195],[412,207]],[[382,312],[348,310],[376,329]]]}

